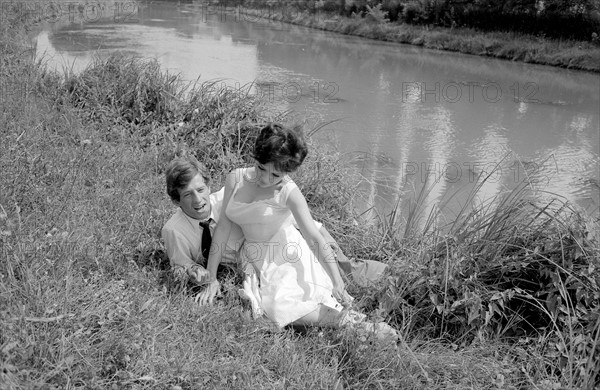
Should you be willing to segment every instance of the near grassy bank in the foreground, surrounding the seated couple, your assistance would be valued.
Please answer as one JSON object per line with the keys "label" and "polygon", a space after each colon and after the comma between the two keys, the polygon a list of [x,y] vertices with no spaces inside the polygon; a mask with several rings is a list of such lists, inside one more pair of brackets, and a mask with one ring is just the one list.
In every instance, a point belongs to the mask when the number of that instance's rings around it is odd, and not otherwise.
{"label": "near grassy bank in the foreground, surrounding the seated couple", "polygon": [[0,26],[0,85],[10,86],[0,114],[0,388],[598,383],[594,221],[559,200],[537,204],[526,184],[445,227],[419,212],[417,195],[407,221],[392,214],[364,231],[351,207],[359,179],[342,156],[312,148],[302,190],[349,256],[392,266],[381,285],[349,288],[402,342],[274,332],[250,319],[232,282],[218,304],[198,307],[165,272],[159,232],[174,210],[164,167],[193,153],[219,182],[244,164],[263,123],[285,117],[120,55],[56,75],[33,62],[24,31]]}

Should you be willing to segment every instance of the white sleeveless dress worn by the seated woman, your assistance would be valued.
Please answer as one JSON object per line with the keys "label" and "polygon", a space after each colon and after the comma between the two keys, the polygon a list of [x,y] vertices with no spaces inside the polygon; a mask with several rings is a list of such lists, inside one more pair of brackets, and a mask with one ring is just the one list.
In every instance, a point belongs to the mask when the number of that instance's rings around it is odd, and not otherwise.
{"label": "white sleeveless dress worn by the seated woman", "polygon": [[[241,173],[247,180],[246,170]],[[338,311],[343,308],[332,295],[331,278],[292,224],[286,202],[297,186],[288,177],[284,180],[273,198],[252,203],[235,200],[236,182],[225,209],[244,233],[240,257],[242,264],[251,264],[258,274],[262,311],[278,326],[304,317],[321,304]]]}

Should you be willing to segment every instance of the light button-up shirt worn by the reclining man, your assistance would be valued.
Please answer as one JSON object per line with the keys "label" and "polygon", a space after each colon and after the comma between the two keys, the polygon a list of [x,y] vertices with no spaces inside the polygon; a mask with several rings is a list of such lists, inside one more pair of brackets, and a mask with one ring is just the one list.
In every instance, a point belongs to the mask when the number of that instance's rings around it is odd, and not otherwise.
{"label": "light button-up shirt worn by the reclining man", "polygon": [[[224,189],[210,194],[210,232],[214,234],[223,206]],[[167,250],[171,267],[187,268],[194,264],[206,265],[202,257],[202,227],[200,220],[192,218],[178,208],[162,228],[161,236]],[[223,263],[235,263],[237,253],[243,243],[242,231],[233,224],[227,247],[221,258]]]}

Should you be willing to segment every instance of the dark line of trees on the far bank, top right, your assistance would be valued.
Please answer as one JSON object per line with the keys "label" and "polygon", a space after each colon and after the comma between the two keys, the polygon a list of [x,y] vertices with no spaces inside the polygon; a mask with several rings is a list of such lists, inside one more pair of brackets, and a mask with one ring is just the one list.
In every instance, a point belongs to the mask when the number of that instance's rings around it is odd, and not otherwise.
{"label": "dark line of trees on the far bank, top right", "polygon": [[227,6],[274,7],[377,22],[512,31],[600,44],[598,0],[219,0]]}

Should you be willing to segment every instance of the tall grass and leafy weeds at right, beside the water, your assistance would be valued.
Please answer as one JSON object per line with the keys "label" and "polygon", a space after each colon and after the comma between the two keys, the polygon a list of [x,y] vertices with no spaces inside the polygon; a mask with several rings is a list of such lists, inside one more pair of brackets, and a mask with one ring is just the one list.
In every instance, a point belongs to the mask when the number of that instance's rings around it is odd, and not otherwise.
{"label": "tall grass and leafy weeds at right, beside the water", "polygon": [[[600,246],[590,217],[561,200],[542,203],[529,183],[472,206],[446,225],[443,208],[419,215],[423,187],[404,222],[405,256],[381,289],[381,305],[398,326],[455,345],[502,339],[526,344],[541,363],[533,383],[598,385]],[[393,216],[391,216],[393,218]],[[417,225],[424,218],[427,223]],[[422,226],[417,230],[417,226]],[[414,248],[410,250],[410,248]]]}

